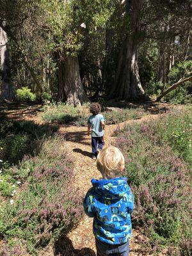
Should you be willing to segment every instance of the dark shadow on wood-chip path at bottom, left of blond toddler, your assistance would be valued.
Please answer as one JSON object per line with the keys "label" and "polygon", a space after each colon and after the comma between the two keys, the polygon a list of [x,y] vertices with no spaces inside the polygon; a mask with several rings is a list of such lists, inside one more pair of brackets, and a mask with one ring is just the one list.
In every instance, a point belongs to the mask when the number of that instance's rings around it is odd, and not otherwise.
{"label": "dark shadow on wood-chip path at bottom, left of blond toddler", "polygon": [[76,250],[68,237],[61,237],[54,244],[54,256],[96,256],[90,248]]}

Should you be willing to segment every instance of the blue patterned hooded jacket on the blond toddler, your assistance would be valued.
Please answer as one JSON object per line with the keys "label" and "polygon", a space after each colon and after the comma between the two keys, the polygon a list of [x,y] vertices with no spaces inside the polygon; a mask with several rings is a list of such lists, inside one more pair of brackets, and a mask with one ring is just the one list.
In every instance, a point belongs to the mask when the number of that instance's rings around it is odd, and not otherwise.
{"label": "blue patterned hooded jacket on the blond toddler", "polygon": [[131,212],[134,197],[124,177],[92,179],[93,187],[86,193],[83,206],[93,218],[93,234],[108,244],[126,243],[131,237]]}

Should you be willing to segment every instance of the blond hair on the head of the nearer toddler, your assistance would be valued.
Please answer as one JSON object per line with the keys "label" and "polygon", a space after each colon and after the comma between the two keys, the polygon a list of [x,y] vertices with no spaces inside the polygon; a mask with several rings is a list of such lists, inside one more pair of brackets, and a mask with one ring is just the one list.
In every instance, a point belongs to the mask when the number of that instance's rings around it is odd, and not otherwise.
{"label": "blond hair on the head of the nearer toddler", "polygon": [[97,156],[97,168],[104,179],[119,177],[125,168],[125,159],[116,147],[105,147]]}

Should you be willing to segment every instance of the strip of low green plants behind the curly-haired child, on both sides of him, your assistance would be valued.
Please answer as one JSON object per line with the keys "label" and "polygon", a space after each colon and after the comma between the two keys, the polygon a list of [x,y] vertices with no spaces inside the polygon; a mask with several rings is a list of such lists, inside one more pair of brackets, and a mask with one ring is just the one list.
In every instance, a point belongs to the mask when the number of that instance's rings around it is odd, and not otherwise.
{"label": "strip of low green plants behind the curly-haired child, on both sides of him", "polygon": [[[105,109],[105,108],[104,108]],[[118,111],[102,111],[106,124],[118,124],[126,120],[138,119],[147,113],[143,109],[119,109]],[[49,104],[43,108],[42,118],[46,122],[86,126],[90,116],[87,106],[74,108],[68,104]]]}

